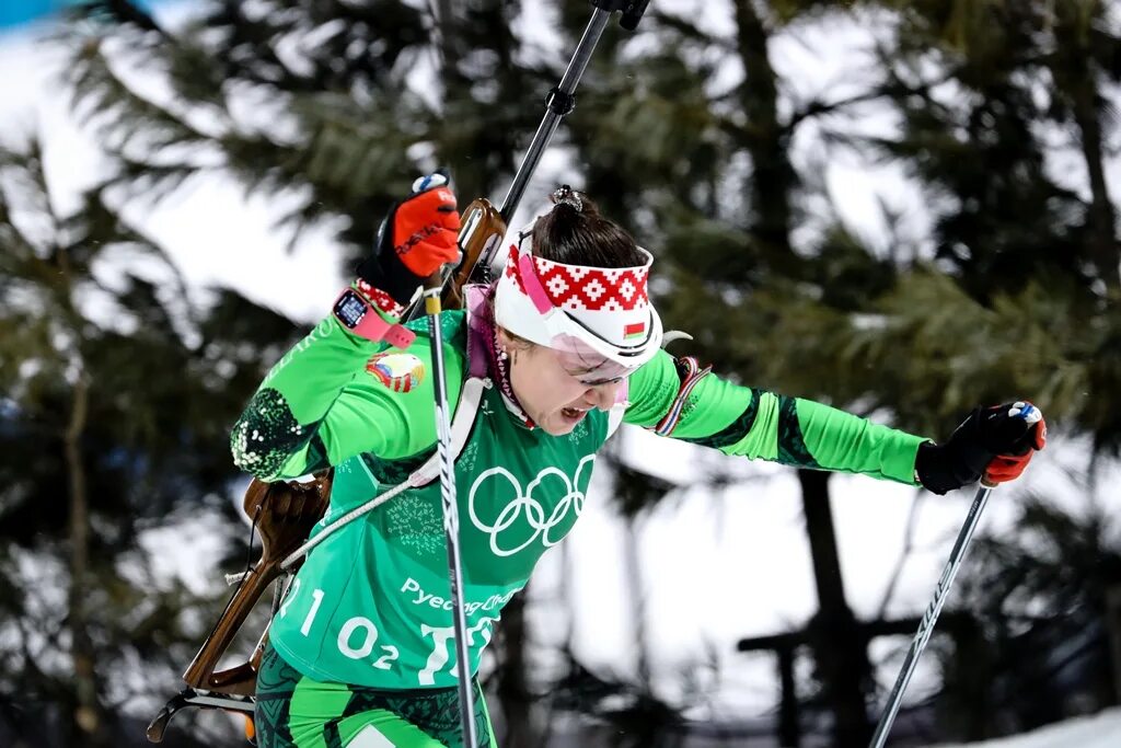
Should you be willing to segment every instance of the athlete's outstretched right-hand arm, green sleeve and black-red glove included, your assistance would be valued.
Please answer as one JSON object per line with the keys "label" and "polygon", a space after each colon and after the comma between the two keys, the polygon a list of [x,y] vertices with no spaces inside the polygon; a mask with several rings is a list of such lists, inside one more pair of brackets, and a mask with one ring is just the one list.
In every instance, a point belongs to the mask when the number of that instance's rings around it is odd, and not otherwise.
{"label": "athlete's outstretched right-hand arm, green sleeve and black-red glove included", "polygon": [[1027,400],[979,407],[943,444],[798,397],[739,387],[663,352],[630,381],[626,421],[659,434],[798,468],[861,473],[945,493],[1015,480],[1047,440]]}

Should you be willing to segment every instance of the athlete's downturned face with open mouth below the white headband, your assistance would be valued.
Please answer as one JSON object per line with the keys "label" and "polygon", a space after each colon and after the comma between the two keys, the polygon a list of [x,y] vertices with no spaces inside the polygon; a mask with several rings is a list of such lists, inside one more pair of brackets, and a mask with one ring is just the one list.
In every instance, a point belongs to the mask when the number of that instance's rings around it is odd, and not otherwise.
{"label": "athlete's downturned face with open mouth below the white headband", "polygon": [[544,345],[515,342],[504,332],[499,332],[499,342],[509,353],[510,386],[526,415],[545,433],[563,436],[592,408],[614,405],[622,379],[581,381],[587,371],[576,362]]}

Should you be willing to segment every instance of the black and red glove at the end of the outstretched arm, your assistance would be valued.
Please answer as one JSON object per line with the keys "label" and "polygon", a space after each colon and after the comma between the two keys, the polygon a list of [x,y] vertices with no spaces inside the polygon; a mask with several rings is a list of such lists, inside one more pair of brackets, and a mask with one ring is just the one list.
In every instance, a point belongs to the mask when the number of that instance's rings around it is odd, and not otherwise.
{"label": "black and red glove at the end of the outstretched arm", "polygon": [[1039,408],[1025,400],[978,408],[945,444],[918,447],[915,474],[923,487],[945,493],[984,478],[1003,483],[1019,478],[1031,455],[1047,443]]}

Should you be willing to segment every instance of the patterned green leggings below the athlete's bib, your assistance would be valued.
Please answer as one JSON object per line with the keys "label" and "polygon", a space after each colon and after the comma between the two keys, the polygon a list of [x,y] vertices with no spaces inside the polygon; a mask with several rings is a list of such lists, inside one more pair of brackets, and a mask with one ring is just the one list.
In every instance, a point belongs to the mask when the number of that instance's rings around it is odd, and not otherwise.
{"label": "patterned green leggings below the athlete's bib", "polygon": [[[475,693],[476,748],[497,748]],[[269,646],[257,675],[258,748],[463,748],[457,689],[388,691],[300,675]]]}

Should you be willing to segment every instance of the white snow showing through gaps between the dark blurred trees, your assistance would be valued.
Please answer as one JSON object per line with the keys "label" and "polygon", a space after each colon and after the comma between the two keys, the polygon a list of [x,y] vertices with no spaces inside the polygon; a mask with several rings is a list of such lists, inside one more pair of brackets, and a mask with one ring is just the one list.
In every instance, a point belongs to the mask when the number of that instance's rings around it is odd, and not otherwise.
{"label": "white snow showing through gaps between the dark blurred trees", "polygon": [[[677,4],[701,6],[684,1]],[[174,22],[187,10],[172,3],[163,6],[160,12],[166,21]],[[706,22],[719,27],[729,21],[716,15],[706,17]],[[524,24],[520,30],[541,35],[547,48],[548,29]],[[54,195],[63,203],[59,207],[65,209],[65,201],[76,201],[78,191],[94,181],[102,163],[96,142],[77,126],[61,94],[55,79],[58,57],[37,41],[47,31],[45,26],[35,26],[0,34],[0,138],[13,142],[28,133],[40,133]],[[827,33],[802,28],[797,35],[778,39],[773,62],[787,80],[798,82],[795,94],[808,98],[842,85],[844,71],[860,67],[869,43],[867,33],[855,25]],[[844,95],[843,87],[837,95]],[[895,123],[890,117],[873,111],[862,119],[862,127],[890,132]],[[1068,148],[1068,144],[1056,144],[1048,166],[1069,186],[1084,192],[1084,177],[1071,167]],[[795,159],[809,163],[819,157],[819,150],[821,144],[807,135],[795,144]],[[545,185],[568,174],[565,169],[564,158],[550,157],[529,193],[543,194]],[[837,209],[860,236],[880,246],[889,241],[878,202],[884,201],[901,213],[902,231],[921,243],[929,216],[917,188],[897,170],[850,158],[831,161],[825,179]],[[1110,179],[1112,193],[1121,194],[1121,159],[1115,156]],[[526,204],[522,219],[539,209],[539,204]],[[205,303],[210,289],[226,287],[312,325],[343,284],[340,251],[325,230],[305,233],[295,251],[286,251],[287,237],[274,227],[279,214],[280,206],[263,198],[247,198],[238,185],[213,177],[192,179],[172,198],[133,207],[126,216],[168,248],[197,303]],[[100,268],[105,277],[114,271],[111,266]],[[295,287],[302,293],[276,293],[278,288]],[[655,684],[659,683],[659,673],[671,674],[684,663],[703,659],[711,647],[720,654],[723,671],[713,717],[752,715],[772,708],[778,695],[773,663],[766,656],[736,654],[735,643],[789,630],[816,610],[800,491],[794,473],[769,464],[741,463],[637,430],[624,430],[621,441],[620,449],[629,462],[678,486],[670,500],[637,524],[645,597],[642,628]],[[1072,482],[1072,475],[1086,474],[1087,453],[1086,444],[1053,433],[1047,451],[1035,460],[1027,477],[994,493],[982,529],[1000,533],[1009,527],[1017,514],[1017,495],[1025,489],[1060,496],[1075,514],[1092,508],[1121,511],[1121,491],[1113,488],[1121,481],[1118,464],[1097,465],[1094,479],[1085,484]],[[720,492],[695,488],[713,469],[733,472],[743,480]],[[531,588],[529,616],[537,637],[545,643],[558,644],[571,627],[583,661],[631,673],[637,662],[632,634],[637,626],[636,601],[626,578],[626,528],[602,498],[605,479],[601,474],[593,483],[582,520],[564,548],[552,551],[541,562]],[[965,517],[972,491],[924,497],[907,487],[852,477],[837,477],[832,486],[842,572],[858,617],[879,612],[907,539],[908,518],[919,502],[915,551],[887,612],[920,611]],[[152,533],[149,545],[197,548],[198,543],[207,543],[211,521],[202,517],[175,530]],[[169,537],[179,542],[168,544]],[[191,557],[196,557],[193,552]],[[165,566],[168,574],[183,575],[197,588],[220,571],[229,571],[174,561]],[[571,604],[557,604],[563,598]],[[575,611],[571,620],[569,611]],[[873,661],[898,645],[876,641]],[[882,684],[890,684],[897,666],[898,659],[892,659],[881,668]],[[929,663],[919,666],[908,701],[926,695],[936,684],[928,668]],[[679,680],[667,675],[664,683],[670,689]],[[680,695],[664,694],[670,701]],[[979,745],[1118,746],[1121,712],[1075,720],[1017,740]]]}

